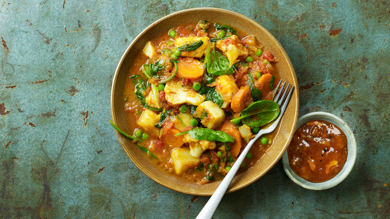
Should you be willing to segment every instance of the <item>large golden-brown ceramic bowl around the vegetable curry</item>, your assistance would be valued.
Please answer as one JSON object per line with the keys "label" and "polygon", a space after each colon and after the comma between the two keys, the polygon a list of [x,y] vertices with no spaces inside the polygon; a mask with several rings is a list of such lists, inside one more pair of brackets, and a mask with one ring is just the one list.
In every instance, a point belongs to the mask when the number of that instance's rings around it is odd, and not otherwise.
{"label": "large golden-brown ceramic bowl around the vegetable curry", "polygon": [[[147,28],[145,28],[145,30],[138,34],[137,37],[135,37],[133,42],[131,42],[129,47],[124,52],[121,60],[119,61],[118,67],[115,71],[111,88],[112,120],[120,129],[129,133],[128,127],[126,125],[126,119],[124,117],[124,103],[122,100],[124,83],[134,58],[140,51],[142,51],[146,42],[154,39],[163,31],[169,30],[174,26],[200,20],[225,23],[232,27],[241,29],[247,34],[255,35],[257,39],[262,42],[262,44],[266,46],[266,48],[268,48],[275,57],[279,59],[279,62],[277,62],[276,66],[279,69],[281,78],[287,81],[287,83],[291,83],[295,86],[295,91],[293,92],[293,96],[291,97],[282,121],[275,130],[278,132],[277,137],[275,138],[271,147],[268,149],[268,153],[266,153],[264,157],[262,157],[261,161],[258,162],[254,167],[234,177],[228,190],[228,193],[230,193],[255,182],[279,161],[287,146],[289,145],[291,138],[293,137],[296,121],[298,118],[298,83],[293,65],[275,37],[263,26],[259,25],[252,19],[249,19],[236,12],[224,9],[194,8],[169,14],[149,25]],[[210,196],[214,193],[215,189],[220,184],[220,182],[212,182],[206,185],[198,185],[195,183],[186,182],[184,179],[177,178],[175,175],[167,173],[166,171],[159,170],[146,157],[146,154],[139,147],[137,147],[137,145],[132,143],[128,138],[119,134],[119,132],[117,132],[117,136],[124,151],[129,156],[131,161],[133,161],[133,163],[152,180],[169,189],[173,189],[181,193]]]}

